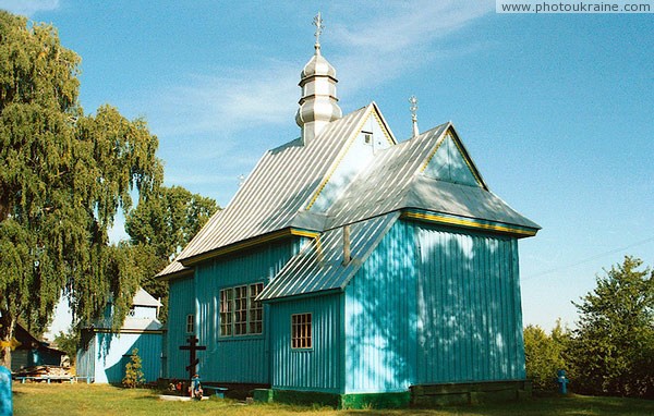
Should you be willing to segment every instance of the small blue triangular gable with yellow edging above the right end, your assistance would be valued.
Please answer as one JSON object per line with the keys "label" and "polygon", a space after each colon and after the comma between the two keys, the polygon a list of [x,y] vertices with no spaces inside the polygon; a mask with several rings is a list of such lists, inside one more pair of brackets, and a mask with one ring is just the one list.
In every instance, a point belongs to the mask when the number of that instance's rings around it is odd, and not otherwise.
{"label": "small blue triangular gable with yellow edging above the right end", "polygon": [[485,187],[474,163],[451,130],[441,138],[423,174],[440,181]]}

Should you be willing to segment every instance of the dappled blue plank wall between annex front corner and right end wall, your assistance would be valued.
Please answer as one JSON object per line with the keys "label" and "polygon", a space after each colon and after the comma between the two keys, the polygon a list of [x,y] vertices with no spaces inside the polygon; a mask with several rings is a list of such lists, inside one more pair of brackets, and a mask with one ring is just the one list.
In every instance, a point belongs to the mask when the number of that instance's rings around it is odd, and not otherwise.
{"label": "dappled blue plank wall between annex front corner and right end wall", "polygon": [[398,221],[346,289],[346,393],[407,391],[415,379],[414,249]]}

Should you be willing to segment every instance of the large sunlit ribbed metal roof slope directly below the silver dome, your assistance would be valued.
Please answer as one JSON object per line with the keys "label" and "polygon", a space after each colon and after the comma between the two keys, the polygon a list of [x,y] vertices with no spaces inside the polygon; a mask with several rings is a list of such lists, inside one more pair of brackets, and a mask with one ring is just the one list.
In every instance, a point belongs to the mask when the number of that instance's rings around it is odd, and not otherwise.
{"label": "large sunlit ribbed metal roof slope directly below the silver dome", "polygon": [[[185,262],[246,238],[291,225],[316,223],[312,216],[299,216],[299,211],[324,182],[340,155],[347,151],[348,140],[358,133],[374,107],[371,103],[331,122],[306,145],[293,140],[268,150],[233,200],[207,222],[177,260]],[[317,221],[318,225],[320,223]]]}

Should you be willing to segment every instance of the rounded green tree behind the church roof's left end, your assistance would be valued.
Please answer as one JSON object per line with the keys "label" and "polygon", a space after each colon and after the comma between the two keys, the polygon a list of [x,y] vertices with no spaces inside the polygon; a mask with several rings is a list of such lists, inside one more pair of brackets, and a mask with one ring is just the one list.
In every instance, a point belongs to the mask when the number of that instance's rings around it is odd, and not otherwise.
{"label": "rounded green tree behind the church roof's left end", "polygon": [[181,186],[161,186],[126,216],[125,230],[134,255],[140,259],[141,284],[153,296],[161,297],[162,320],[167,313],[168,284],[154,277],[172,261],[218,209],[211,198],[192,194]]}

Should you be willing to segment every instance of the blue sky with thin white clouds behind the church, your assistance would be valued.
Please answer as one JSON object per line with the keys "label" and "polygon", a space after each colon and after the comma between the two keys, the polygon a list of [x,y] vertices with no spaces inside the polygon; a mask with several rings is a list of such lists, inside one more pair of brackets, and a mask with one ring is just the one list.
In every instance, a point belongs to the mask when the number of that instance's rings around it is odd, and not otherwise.
{"label": "blue sky with thin white clouds behind the church", "polygon": [[[497,14],[494,1],[0,0],[82,57],[81,103],[144,118],[167,185],[226,206],[299,136],[300,71],[337,70],[343,113],[377,102],[400,140],[452,121],[489,188],[543,230],[520,241],[524,325],[633,255],[654,266],[654,14]],[[122,222],[113,238],[124,236]]]}

